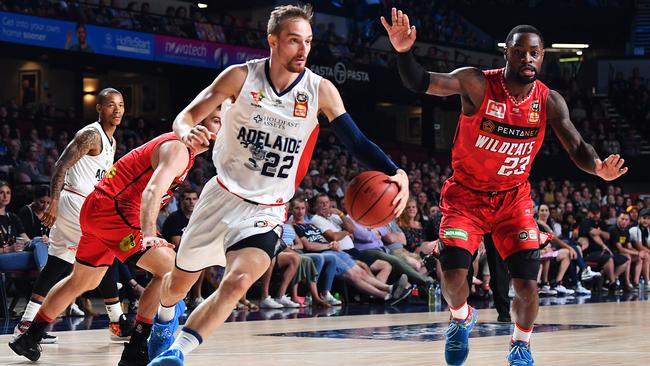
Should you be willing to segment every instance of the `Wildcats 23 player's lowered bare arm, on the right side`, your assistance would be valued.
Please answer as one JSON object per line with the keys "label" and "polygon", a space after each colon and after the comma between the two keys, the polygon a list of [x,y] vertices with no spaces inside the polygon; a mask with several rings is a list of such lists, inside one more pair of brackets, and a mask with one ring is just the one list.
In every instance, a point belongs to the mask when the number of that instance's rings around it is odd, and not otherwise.
{"label": "Wildcats 23 player's lowered bare arm, on the right side", "polygon": [[578,168],[608,181],[627,172],[627,167],[623,167],[625,160],[618,154],[612,154],[604,161],[598,158],[594,147],[585,142],[569,119],[569,108],[560,93],[549,91],[546,108],[548,123]]}

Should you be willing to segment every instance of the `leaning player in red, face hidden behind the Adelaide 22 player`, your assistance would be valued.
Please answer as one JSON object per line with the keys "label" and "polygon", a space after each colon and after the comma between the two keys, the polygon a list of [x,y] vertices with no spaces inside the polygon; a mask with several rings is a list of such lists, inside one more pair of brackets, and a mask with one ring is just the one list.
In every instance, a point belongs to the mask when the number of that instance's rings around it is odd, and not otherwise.
{"label": "leaning player in red, face hidden behind the Adelaide 22 player", "polygon": [[[219,124],[206,118],[194,128],[214,139]],[[206,150],[204,145],[195,151]],[[27,331],[9,343],[14,352],[38,360],[38,342],[45,327],[78,295],[97,287],[117,257],[153,274],[140,298],[136,326],[119,365],[149,363],[147,338],[160,302],[161,280],[172,269],[175,258],[173,245],[156,236],[156,217],[173,190],[183,183],[194,156],[169,132],[132,150],[106,172],[81,208],[82,236],[72,274],[48,293]],[[150,247],[154,250],[148,250]],[[178,308],[183,310],[182,306]]]}

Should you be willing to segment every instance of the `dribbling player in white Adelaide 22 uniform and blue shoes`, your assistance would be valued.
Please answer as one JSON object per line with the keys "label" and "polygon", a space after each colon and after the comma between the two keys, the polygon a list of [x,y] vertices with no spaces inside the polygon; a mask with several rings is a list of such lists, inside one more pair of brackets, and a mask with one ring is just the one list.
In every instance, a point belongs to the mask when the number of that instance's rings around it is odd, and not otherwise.
{"label": "dribbling player in white Adelaide 22 uniform and blue shoes", "polygon": [[[359,131],[334,85],[305,68],[311,16],[310,6],[275,8],[268,23],[270,58],[227,68],[174,121],[181,140],[198,149],[210,136],[192,128],[223,103],[213,151],[217,176],[205,185],[181,238],[176,266],[163,280],[149,352],[164,352],[150,365],[182,365],[184,355],[225,321],[284,249],[285,204],[307,171],[319,113],[354,157],[398,184],[395,213],[406,204],[406,173]],[[178,324],[174,304],[202,269],[214,265],[226,266],[219,289],[194,310],[169,346]]]}

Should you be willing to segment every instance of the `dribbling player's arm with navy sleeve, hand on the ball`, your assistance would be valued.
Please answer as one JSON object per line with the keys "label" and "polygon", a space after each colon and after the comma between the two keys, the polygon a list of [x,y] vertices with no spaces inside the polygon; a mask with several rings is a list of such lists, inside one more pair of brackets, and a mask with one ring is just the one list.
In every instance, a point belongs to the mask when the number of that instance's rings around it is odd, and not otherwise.
{"label": "dribbling player's arm with navy sleeve, hand on the ball", "polygon": [[409,195],[409,183],[406,172],[398,169],[388,156],[366,135],[359,130],[352,117],[345,111],[343,100],[331,81],[322,79],[318,87],[318,109],[327,116],[334,133],[347,147],[348,151],[367,168],[384,172],[399,187],[393,201],[397,216],[406,207]]}

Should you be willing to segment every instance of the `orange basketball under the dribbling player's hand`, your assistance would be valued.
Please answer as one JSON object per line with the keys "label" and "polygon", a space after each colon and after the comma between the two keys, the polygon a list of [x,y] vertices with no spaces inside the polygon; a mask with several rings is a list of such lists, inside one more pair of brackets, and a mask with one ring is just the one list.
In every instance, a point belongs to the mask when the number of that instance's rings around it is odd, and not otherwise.
{"label": "orange basketball under the dribbling player's hand", "polygon": [[375,228],[395,218],[393,200],[399,187],[388,179],[382,172],[368,171],[350,182],[345,191],[345,210],[354,221]]}

